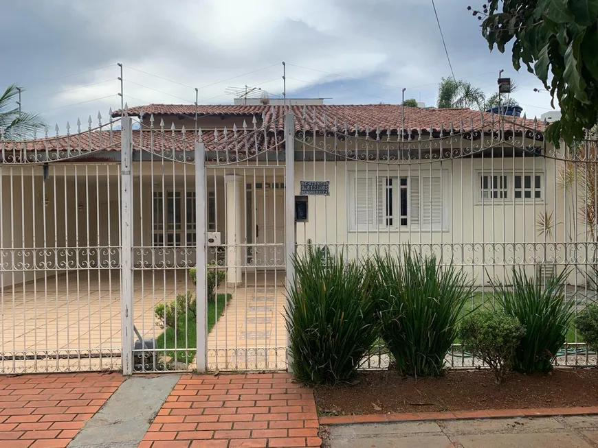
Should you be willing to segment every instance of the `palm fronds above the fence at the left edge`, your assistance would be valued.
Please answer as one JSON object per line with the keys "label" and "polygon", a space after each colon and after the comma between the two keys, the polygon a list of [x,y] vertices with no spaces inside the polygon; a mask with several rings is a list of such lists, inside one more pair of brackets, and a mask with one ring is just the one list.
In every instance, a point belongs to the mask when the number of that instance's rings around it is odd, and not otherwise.
{"label": "palm fronds above the fence at the left edge", "polygon": [[16,84],[10,84],[0,95],[0,129],[8,140],[34,137],[35,132],[45,126],[39,115],[22,111],[19,113],[19,108],[14,104],[17,95],[19,86]]}

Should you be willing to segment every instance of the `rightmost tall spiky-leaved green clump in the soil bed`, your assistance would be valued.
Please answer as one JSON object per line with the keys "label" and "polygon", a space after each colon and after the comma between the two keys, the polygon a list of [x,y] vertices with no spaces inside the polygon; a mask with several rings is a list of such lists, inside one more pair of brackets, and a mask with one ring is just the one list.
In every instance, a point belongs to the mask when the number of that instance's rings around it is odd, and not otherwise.
{"label": "rightmost tall spiky-leaved green clump in the soil bed", "polygon": [[494,296],[505,313],[525,327],[513,359],[515,370],[523,373],[551,370],[575,311],[575,301],[566,300],[564,294],[567,276],[568,270],[564,270],[558,276],[540,281],[529,279],[520,268],[513,268],[511,287],[492,284]]}

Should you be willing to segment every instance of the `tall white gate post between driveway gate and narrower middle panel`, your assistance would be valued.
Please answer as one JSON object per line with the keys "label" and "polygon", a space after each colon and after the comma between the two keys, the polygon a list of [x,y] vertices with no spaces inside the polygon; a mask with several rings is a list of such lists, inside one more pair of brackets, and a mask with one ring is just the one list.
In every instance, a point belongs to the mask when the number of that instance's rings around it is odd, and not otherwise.
{"label": "tall white gate post between driveway gate and narrower middle panel", "polygon": [[121,117],[120,318],[122,374],[133,373],[133,142],[131,117]]}

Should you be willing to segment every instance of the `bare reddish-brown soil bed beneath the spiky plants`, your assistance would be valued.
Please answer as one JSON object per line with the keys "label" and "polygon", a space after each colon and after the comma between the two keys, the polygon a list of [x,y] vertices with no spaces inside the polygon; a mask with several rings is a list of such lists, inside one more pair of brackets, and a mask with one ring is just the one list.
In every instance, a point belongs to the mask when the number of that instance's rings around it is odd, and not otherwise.
{"label": "bare reddish-brown soil bed beneath the spiky plants", "polygon": [[489,370],[447,370],[437,378],[395,371],[361,372],[352,384],[313,390],[320,415],[598,405],[598,369],[557,368],[548,375],[511,373],[496,386]]}

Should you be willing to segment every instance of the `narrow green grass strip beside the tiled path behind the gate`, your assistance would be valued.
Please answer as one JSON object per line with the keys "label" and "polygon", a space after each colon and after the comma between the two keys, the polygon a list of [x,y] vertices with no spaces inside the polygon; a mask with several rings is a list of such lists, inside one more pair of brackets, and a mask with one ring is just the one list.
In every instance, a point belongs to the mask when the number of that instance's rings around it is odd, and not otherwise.
{"label": "narrow green grass strip beside the tiled path behind the gate", "polygon": [[[217,316],[223,315],[225,305],[230,300],[231,294],[218,294],[216,300],[208,301],[208,333],[212,331],[212,327],[216,325]],[[173,349],[177,349],[176,352]],[[187,314],[187,325],[179,325],[176,334],[175,329],[167,327],[164,333],[156,338],[156,349],[158,355],[164,356],[164,349],[166,349],[167,357],[175,357],[178,362],[189,364],[195,357],[195,349],[197,349],[197,322],[195,315]],[[168,350],[170,349],[170,351]]]}

